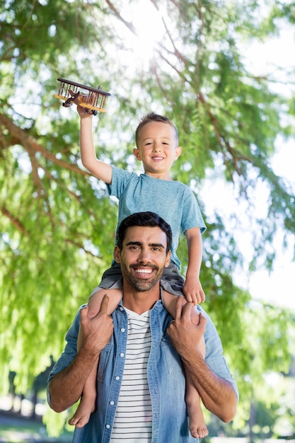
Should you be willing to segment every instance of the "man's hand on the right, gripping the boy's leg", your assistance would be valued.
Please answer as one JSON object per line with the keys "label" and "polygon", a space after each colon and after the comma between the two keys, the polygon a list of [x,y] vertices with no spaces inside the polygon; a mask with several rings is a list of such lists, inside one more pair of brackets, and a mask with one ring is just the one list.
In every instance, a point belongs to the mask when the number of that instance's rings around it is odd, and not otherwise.
{"label": "man's hand on the right, gripping the boy's leg", "polygon": [[199,323],[194,325],[191,321],[192,309],[194,304],[189,302],[182,306],[183,300],[178,297],[175,306],[175,321],[170,323],[167,333],[175,350],[180,357],[190,356],[192,349],[198,349],[202,339],[207,320],[202,313],[199,313]]}

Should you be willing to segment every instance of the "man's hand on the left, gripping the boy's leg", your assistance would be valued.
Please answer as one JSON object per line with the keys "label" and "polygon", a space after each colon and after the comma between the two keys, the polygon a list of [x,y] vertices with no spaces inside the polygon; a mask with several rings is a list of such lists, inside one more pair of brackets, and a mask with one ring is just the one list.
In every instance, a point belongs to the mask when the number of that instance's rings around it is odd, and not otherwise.
{"label": "man's hand on the left, gripping the boy's leg", "polygon": [[108,316],[108,295],[105,294],[100,310],[93,318],[88,318],[88,306],[80,311],[80,328],[82,345],[85,352],[99,355],[100,351],[108,345],[114,325],[112,317]]}

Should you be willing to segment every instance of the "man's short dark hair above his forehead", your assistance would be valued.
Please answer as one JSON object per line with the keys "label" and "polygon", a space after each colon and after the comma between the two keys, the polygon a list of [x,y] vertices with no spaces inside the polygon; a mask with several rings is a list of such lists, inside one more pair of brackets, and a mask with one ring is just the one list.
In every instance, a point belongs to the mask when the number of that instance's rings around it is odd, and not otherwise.
{"label": "man's short dark hair above his forehead", "polygon": [[172,242],[170,224],[166,223],[165,220],[154,212],[136,212],[122,220],[117,229],[117,246],[120,250],[122,250],[126,229],[131,228],[132,226],[146,226],[148,228],[156,228],[158,226],[163,232],[165,232],[167,237],[166,253],[170,251]]}

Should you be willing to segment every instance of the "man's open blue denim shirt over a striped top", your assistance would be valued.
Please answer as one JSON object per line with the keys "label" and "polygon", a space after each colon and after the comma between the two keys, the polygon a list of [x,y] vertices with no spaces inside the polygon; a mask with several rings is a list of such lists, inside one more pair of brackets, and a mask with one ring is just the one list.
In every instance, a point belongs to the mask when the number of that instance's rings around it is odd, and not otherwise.
{"label": "man's open blue denim shirt over a striped top", "polygon": [[[199,308],[199,311],[202,311]],[[204,313],[204,311],[202,311]],[[221,340],[212,321],[207,317],[206,362],[215,374],[229,380],[238,396],[233,376],[223,356]],[[117,401],[124,371],[127,344],[127,313],[120,304],[112,313],[114,332],[110,343],[101,351],[98,376],[96,412],[87,425],[74,431],[73,443],[108,443],[112,434]],[[181,359],[170,343],[166,329],[172,317],[158,300],[151,309],[151,355],[148,362],[148,379],[153,410],[151,443],[197,442],[190,435],[185,407],[185,375]],[[66,334],[66,347],[50,373],[55,374],[69,366],[76,355],[79,331],[79,313]]]}

